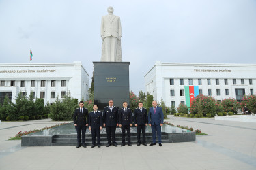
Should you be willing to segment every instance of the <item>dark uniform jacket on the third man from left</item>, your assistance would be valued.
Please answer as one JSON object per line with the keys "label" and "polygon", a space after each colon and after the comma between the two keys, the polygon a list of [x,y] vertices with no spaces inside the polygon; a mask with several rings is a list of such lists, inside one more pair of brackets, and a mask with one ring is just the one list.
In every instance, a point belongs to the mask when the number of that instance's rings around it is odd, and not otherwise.
{"label": "dark uniform jacket on the third man from left", "polygon": [[113,106],[112,112],[110,111],[109,106],[104,107],[103,123],[105,123],[106,126],[117,126],[118,117],[117,107]]}

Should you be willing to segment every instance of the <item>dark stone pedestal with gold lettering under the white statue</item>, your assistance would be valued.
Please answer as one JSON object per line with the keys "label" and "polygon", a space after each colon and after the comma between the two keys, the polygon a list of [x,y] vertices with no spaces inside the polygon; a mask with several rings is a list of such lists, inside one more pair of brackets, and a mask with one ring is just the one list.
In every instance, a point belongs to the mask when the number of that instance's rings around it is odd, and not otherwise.
{"label": "dark stone pedestal with gold lettering under the white statue", "polygon": [[94,103],[99,110],[109,105],[122,107],[129,102],[129,65],[130,62],[93,62],[94,63]]}

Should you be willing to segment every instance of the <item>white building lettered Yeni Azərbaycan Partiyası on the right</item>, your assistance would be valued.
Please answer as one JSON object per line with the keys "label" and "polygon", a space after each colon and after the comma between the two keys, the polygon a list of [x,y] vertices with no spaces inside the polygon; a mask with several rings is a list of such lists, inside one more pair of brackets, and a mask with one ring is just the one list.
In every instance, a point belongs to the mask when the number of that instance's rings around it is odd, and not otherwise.
{"label": "white building lettered Yeni Az\u0259rbaycan Partiyas\u0131 on the right", "polygon": [[178,107],[186,103],[184,86],[199,86],[199,94],[222,101],[255,94],[256,64],[162,63],[146,73],[145,89],[158,102]]}

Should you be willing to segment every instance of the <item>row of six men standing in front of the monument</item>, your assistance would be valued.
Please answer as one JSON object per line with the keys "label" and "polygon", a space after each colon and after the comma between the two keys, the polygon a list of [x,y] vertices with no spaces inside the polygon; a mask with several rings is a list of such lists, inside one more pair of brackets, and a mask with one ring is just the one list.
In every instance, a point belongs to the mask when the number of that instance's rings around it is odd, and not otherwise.
{"label": "row of six men standing in front of the monument", "polygon": [[[156,102],[156,101],[155,101]],[[122,129],[122,143],[121,146],[125,146],[125,131],[127,131],[128,136],[128,146],[132,146],[130,141],[130,127],[132,126],[132,110],[127,108],[128,103],[123,103],[122,109],[117,109],[117,107],[113,106],[113,100],[109,100],[109,106],[104,107],[103,114],[98,111],[98,106],[93,106],[93,111],[88,114],[88,109],[84,108],[83,101],[79,102],[79,108],[74,111],[74,126],[76,126],[77,131],[77,146],[76,148],[81,147],[81,132],[82,132],[82,144],[83,147],[86,148],[85,144],[85,131],[87,126],[89,126],[89,130],[91,131],[92,137],[92,146],[94,148],[96,146],[96,136],[97,136],[97,146],[100,148],[100,130],[103,127],[106,128],[107,135],[107,145],[109,147],[111,145],[117,146],[115,141],[115,130],[119,126]],[[150,121],[150,126],[152,126],[152,143],[150,146],[156,144],[156,131],[154,131],[153,126],[162,126],[163,123],[163,114],[162,108],[159,109],[159,114],[156,115],[156,107],[154,109],[150,109],[149,116],[147,116],[147,109],[143,108],[143,103],[139,102],[139,107],[134,110],[134,124],[137,127],[137,146],[141,145],[141,131],[143,134],[142,144],[147,146],[145,139],[145,129]],[[153,102],[154,106],[154,102]],[[152,110],[152,113],[151,113]],[[154,112],[153,112],[154,110]],[[153,115],[154,114],[154,115]],[[159,121],[154,120],[155,123],[151,125],[153,121],[151,118],[157,117]],[[158,122],[158,123],[157,123]],[[159,130],[159,129],[158,129]],[[159,146],[161,144],[161,132],[158,132],[158,143]],[[153,134],[155,133],[155,134]],[[160,134],[159,134],[160,133]]]}

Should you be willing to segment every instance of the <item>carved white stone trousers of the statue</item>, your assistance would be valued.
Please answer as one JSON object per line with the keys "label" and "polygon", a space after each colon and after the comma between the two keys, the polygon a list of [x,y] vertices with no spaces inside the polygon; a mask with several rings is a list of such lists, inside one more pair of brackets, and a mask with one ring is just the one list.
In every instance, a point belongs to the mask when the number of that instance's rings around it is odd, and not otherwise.
{"label": "carved white stone trousers of the statue", "polygon": [[115,61],[117,56],[117,37],[105,37],[105,54],[108,61]]}

